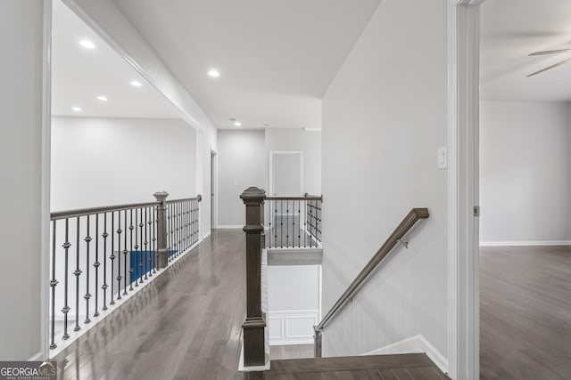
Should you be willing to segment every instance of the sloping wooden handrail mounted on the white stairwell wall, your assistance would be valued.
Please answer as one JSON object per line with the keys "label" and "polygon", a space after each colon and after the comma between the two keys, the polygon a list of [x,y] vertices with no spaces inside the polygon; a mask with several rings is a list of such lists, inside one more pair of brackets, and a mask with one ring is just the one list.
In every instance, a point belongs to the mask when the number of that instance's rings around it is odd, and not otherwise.
{"label": "sloping wooden handrail mounted on the white stairwell wall", "polygon": [[313,327],[315,329],[315,356],[321,356],[321,332],[325,329],[327,323],[335,318],[335,315],[339,311],[343,309],[345,304],[351,300],[359,291],[360,287],[363,283],[368,279],[368,276],[375,271],[377,265],[383,261],[383,259],[388,255],[392,250],[393,247],[396,246],[399,241],[402,239],[404,235],[414,226],[416,222],[420,219],[428,218],[428,209],[427,208],[413,208],[410,210],[410,213],[407,214],[404,219],[402,220],[401,224],[393,231],[391,236],[386,239],[385,244],[380,247],[377,253],[371,258],[371,260],[365,265],[362,271],[360,271],[359,275],[353,280],[351,285],[347,287],[347,290],[344,291],[343,295],[339,297],[337,302],[333,305],[331,310],[327,312],[326,316],[321,319],[319,325]]}

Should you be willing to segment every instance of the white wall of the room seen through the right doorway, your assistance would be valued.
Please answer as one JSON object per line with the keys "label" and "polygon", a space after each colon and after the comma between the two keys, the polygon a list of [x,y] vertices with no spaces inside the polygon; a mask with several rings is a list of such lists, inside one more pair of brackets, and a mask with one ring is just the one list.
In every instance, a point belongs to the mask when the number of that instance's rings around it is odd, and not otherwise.
{"label": "white wall of the room seen through the right doorway", "polygon": [[567,103],[480,103],[480,241],[571,240]]}

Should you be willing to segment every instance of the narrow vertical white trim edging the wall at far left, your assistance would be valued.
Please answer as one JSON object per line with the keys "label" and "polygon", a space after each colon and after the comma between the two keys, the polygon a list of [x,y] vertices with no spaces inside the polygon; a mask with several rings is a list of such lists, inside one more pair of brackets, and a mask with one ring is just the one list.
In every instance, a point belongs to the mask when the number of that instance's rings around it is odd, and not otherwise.
{"label": "narrow vertical white trim edging the wall at far left", "polygon": [[[49,352],[50,278],[50,181],[52,150],[52,0],[44,2],[42,47],[42,141],[40,199],[40,352],[37,360]],[[37,354],[36,354],[37,357]],[[31,360],[31,359],[30,359]]]}

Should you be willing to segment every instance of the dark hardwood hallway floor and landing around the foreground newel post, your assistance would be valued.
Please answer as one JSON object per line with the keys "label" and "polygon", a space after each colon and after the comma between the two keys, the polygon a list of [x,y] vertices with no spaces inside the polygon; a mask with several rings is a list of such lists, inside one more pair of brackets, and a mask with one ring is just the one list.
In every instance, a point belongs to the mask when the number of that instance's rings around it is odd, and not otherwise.
{"label": "dark hardwood hallway floor and landing around the foreground newel post", "polygon": [[58,379],[446,378],[424,354],[272,360],[268,372],[238,373],[244,247],[242,230],[214,231],[58,354]]}

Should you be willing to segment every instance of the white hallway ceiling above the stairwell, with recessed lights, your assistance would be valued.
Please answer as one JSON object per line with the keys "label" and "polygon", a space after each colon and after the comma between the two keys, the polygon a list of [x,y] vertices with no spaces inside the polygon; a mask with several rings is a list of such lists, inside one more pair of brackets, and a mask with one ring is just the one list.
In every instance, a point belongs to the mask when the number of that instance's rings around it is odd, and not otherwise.
{"label": "white hallway ceiling above the stairwell, with recessed lights", "polygon": [[321,98],[380,2],[114,1],[219,128],[231,117],[319,127]]}

